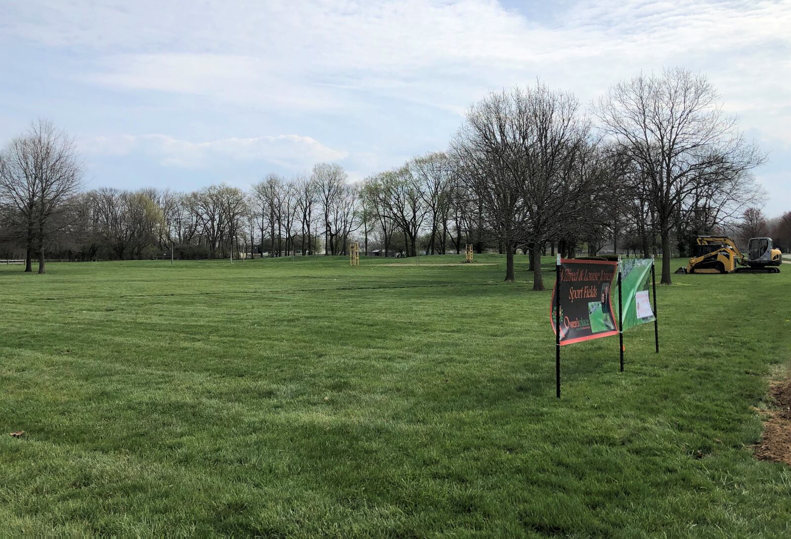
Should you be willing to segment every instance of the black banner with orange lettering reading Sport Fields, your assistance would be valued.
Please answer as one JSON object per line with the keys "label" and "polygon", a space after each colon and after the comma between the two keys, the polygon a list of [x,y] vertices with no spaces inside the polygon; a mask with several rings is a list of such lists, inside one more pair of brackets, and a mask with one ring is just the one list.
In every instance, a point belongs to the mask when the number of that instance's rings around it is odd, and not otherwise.
{"label": "black banner with orange lettering reading Sport Fields", "polygon": [[560,278],[556,279],[552,292],[551,320],[557,335],[555,316],[559,297],[561,345],[618,334],[610,298],[617,271],[617,262],[560,260]]}

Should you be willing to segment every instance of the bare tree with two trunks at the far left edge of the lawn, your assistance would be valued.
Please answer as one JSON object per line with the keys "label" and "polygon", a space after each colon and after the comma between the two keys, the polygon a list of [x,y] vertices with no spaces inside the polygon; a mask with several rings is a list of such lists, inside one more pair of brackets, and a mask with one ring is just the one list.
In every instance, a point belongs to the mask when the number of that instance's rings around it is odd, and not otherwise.
{"label": "bare tree with two trunks at the far left edge of the lawn", "polygon": [[[58,230],[53,216],[81,188],[83,165],[74,139],[49,120],[31,123],[0,154],[0,204],[13,214],[25,234],[25,271],[32,271],[34,249],[39,273],[45,273],[44,250]],[[63,222],[63,221],[60,221]]]}

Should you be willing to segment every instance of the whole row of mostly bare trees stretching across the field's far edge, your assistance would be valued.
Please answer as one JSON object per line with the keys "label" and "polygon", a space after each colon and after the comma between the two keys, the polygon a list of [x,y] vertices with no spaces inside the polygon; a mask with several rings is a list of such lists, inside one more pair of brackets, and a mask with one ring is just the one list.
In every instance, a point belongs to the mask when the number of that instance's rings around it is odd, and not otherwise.
{"label": "whole row of mostly bare trees stretching across the field's far edge", "polygon": [[[751,170],[766,161],[723,112],[707,78],[680,68],[611,86],[583,107],[537,82],[471,104],[448,149],[350,183],[335,163],[269,174],[247,192],[85,191],[66,133],[41,120],[0,154],[0,250],[64,260],[363,252],[414,256],[497,249],[589,255],[604,247],[687,256],[698,234],[772,235],[791,247],[791,212],[767,221]],[[759,233],[760,232],[760,233]],[[16,249],[16,250],[15,250]],[[2,255],[0,255],[2,256]]]}

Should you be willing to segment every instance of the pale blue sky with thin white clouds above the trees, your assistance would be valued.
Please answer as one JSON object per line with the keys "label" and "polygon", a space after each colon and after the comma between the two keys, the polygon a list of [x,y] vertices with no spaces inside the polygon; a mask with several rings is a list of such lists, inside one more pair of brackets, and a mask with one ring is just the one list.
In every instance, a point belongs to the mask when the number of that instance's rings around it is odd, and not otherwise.
{"label": "pale blue sky with thin white clouds above the trees", "polygon": [[[551,7],[547,7],[551,4]],[[44,116],[90,187],[178,190],[442,150],[464,108],[536,78],[583,103],[641,70],[707,74],[791,211],[791,3],[0,0],[0,142]]]}

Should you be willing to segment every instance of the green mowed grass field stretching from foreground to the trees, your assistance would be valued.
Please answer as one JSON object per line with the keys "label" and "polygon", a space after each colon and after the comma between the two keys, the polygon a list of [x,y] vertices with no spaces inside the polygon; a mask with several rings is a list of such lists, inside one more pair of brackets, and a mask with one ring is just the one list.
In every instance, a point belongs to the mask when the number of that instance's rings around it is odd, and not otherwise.
{"label": "green mowed grass field stretching from foreground to the trees", "polygon": [[674,275],[557,400],[551,292],[463,258],[0,266],[0,533],[791,536],[791,267]]}

